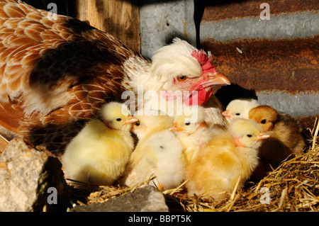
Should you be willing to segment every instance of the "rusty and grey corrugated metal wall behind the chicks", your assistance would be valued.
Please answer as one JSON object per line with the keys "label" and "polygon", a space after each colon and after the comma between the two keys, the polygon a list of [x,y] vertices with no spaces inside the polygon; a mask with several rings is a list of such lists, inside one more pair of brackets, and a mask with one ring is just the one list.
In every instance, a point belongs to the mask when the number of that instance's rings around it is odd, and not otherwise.
{"label": "rusty and grey corrugated metal wall behind the chicks", "polygon": [[319,1],[215,2],[201,5],[200,43],[234,84],[216,96],[227,104],[253,89],[261,103],[312,125],[319,115]]}

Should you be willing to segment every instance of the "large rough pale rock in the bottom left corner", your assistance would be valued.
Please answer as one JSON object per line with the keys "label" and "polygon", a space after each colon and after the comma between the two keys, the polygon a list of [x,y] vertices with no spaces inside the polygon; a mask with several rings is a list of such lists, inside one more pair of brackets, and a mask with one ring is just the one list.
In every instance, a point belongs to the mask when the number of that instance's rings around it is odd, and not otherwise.
{"label": "large rough pale rock in the bottom left corner", "polygon": [[62,164],[44,147],[17,137],[0,157],[0,211],[67,210]]}

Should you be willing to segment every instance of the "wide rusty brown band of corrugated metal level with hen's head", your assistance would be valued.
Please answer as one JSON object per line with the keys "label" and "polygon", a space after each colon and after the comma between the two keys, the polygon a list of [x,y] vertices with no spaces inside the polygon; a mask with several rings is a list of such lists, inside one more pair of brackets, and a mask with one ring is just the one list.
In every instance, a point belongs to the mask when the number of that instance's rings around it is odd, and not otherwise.
{"label": "wide rusty brown band of corrugated metal level with hen's head", "polygon": [[296,40],[205,40],[218,72],[230,81],[256,91],[282,90],[291,94],[318,91],[319,36]]}

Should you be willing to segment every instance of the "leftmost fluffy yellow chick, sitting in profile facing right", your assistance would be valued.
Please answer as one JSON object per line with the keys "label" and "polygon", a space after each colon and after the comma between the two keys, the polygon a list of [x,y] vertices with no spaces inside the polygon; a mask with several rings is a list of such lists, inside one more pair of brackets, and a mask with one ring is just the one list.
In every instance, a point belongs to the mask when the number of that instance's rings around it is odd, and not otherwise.
{"label": "leftmost fluffy yellow chick, sitting in profile facing right", "polygon": [[62,164],[69,179],[96,185],[111,185],[118,179],[133,152],[128,109],[121,103],[107,103],[101,118],[89,123],[67,145]]}

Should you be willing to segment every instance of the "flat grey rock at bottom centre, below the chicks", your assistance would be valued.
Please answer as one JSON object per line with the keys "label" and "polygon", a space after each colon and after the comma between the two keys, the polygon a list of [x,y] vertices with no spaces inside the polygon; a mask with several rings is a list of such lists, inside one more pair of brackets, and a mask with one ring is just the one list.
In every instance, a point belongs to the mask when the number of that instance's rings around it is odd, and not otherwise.
{"label": "flat grey rock at bottom centre, below the chicks", "polygon": [[77,205],[72,212],[167,212],[169,208],[162,193],[153,186],[138,188],[104,203]]}

